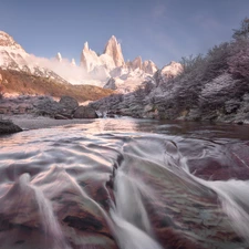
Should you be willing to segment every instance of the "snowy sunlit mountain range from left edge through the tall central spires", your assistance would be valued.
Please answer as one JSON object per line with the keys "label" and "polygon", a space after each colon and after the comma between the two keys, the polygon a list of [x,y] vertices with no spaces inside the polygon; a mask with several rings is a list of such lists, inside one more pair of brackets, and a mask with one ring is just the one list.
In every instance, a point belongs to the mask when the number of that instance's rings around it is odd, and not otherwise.
{"label": "snowy sunlit mountain range from left edge through the tall central spires", "polygon": [[[29,54],[3,31],[0,31],[0,68],[54,80],[62,84],[87,84],[105,89],[115,85],[116,92],[121,93],[136,90],[158,70],[153,61],[143,61],[141,56],[125,62],[121,44],[114,35],[105,44],[102,54],[91,50],[85,42],[80,65],[76,65],[74,59],[64,59],[61,53],[52,59]],[[113,84],[106,84],[111,79]]]}

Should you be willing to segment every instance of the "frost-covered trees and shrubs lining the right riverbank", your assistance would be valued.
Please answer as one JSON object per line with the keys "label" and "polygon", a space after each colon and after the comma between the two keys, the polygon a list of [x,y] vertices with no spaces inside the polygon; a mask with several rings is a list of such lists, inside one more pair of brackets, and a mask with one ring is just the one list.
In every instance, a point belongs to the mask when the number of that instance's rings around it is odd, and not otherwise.
{"label": "frost-covered trees and shrubs lining the right riverbank", "polygon": [[165,79],[159,70],[136,92],[93,105],[135,117],[249,122],[248,18],[231,41],[180,63],[184,70],[175,79]]}

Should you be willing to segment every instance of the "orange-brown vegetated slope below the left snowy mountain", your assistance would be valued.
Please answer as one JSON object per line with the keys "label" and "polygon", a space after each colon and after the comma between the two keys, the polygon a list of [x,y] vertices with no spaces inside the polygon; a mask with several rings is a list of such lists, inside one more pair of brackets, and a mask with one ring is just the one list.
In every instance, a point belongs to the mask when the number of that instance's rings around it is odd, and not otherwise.
{"label": "orange-brown vegetated slope below the left snowy mountain", "polygon": [[71,85],[58,83],[54,80],[31,75],[23,72],[0,69],[1,82],[0,92],[19,93],[19,94],[37,94],[61,97],[69,95],[79,102],[94,101],[107,96],[113,93],[93,85]]}

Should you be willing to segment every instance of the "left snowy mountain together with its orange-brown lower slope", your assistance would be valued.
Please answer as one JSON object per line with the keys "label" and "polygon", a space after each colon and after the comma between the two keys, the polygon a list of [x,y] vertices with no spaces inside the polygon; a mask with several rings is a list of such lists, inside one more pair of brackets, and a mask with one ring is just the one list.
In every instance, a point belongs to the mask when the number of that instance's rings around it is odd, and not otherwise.
{"label": "left snowy mountain together with its orange-brown lower slope", "polygon": [[[27,53],[12,37],[0,31],[0,91],[6,94],[71,95],[80,102],[112,94],[111,90],[70,84],[63,74],[61,76],[55,72],[61,63],[63,59],[60,53],[54,60],[35,58]],[[75,61],[69,64],[74,68]]]}

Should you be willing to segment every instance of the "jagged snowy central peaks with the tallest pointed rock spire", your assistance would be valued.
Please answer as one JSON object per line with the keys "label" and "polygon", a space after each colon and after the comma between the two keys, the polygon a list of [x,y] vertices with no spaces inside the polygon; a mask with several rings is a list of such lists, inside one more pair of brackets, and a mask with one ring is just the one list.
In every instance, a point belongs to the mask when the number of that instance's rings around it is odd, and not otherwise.
{"label": "jagged snowy central peaks with the tallest pointed rock spire", "polygon": [[[141,56],[125,62],[121,44],[114,35],[100,55],[85,42],[81,53],[81,66],[92,79],[102,82],[101,86],[108,89],[115,85],[116,91],[121,93],[134,91],[157,71],[154,62],[143,62]],[[110,80],[113,84],[110,84]]]}

